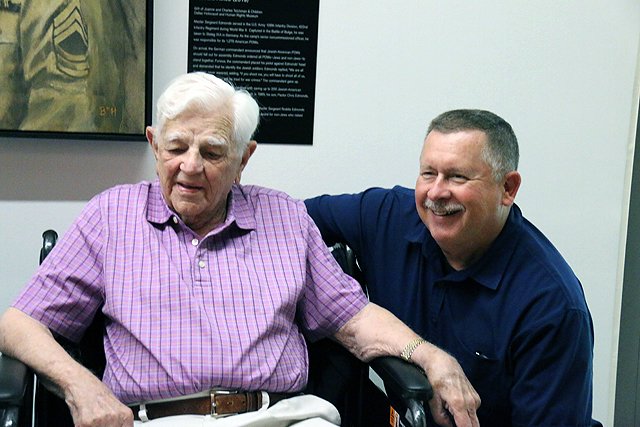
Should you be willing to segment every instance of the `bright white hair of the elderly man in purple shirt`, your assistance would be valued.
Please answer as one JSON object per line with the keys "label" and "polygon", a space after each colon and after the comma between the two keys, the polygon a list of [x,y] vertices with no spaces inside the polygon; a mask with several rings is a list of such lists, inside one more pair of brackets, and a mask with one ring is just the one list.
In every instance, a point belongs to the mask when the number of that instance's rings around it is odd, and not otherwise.
{"label": "bright white hair of the elderly man in purple shirt", "polygon": [[224,80],[203,72],[182,74],[169,83],[158,99],[157,132],[162,132],[167,120],[185,111],[209,113],[221,108],[229,109],[233,143],[243,153],[258,127],[258,103],[247,91],[237,90]]}

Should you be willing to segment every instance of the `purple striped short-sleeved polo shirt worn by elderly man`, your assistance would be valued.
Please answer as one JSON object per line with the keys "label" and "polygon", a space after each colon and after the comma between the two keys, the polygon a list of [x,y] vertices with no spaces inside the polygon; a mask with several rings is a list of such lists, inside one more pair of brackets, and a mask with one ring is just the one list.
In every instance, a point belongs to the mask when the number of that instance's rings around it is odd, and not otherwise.
{"label": "purple striped short-sleeved polo shirt worn by elderly man", "polygon": [[123,402],[212,387],[297,391],[302,333],[335,333],[366,304],[304,203],[234,186],[224,224],[200,240],[157,181],[94,197],[14,307],[78,340],[107,318],[104,382]]}

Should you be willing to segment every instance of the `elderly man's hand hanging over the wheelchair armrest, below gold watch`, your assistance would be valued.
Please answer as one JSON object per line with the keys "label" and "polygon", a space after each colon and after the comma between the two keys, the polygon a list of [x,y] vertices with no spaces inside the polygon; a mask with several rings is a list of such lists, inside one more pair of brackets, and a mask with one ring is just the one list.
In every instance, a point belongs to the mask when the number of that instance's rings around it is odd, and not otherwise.
{"label": "elderly man's hand hanging over the wheelchair armrest, below gold watch", "polygon": [[479,426],[480,396],[456,359],[429,343],[416,349],[412,358],[425,370],[433,388],[429,401],[433,420],[441,426]]}

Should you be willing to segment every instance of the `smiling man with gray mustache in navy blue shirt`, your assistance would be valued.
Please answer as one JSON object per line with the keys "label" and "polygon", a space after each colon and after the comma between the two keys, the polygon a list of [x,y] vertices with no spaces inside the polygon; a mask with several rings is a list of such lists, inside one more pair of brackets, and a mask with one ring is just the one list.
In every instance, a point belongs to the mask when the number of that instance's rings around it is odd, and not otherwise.
{"label": "smiling man with gray mustache in navy blue shirt", "polygon": [[592,423],[593,327],[580,282],[515,205],[511,126],[488,111],[435,118],[415,191],[306,201],[349,244],[372,302],[460,362],[485,426]]}

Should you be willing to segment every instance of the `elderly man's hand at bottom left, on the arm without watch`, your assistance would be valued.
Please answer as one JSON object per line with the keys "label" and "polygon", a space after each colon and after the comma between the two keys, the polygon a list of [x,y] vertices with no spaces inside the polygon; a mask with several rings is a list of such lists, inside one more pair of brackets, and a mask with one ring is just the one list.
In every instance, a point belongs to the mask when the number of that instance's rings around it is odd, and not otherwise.
{"label": "elderly man's hand at bottom left, on the arm without watch", "polygon": [[91,374],[82,381],[75,381],[66,390],[65,400],[76,427],[133,426],[131,409]]}

